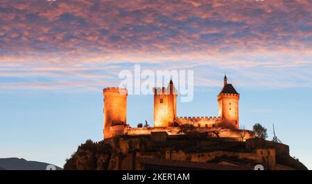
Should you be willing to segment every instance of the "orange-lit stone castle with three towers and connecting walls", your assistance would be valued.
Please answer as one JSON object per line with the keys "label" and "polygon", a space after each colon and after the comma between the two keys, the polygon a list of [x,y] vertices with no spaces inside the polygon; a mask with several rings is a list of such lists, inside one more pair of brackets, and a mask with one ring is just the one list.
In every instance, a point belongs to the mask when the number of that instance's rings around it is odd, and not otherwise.
{"label": "orange-lit stone castle with three towers and connecting walls", "polygon": [[[254,137],[252,131],[239,130],[239,93],[227,76],[223,88],[217,96],[218,117],[177,117],[177,89],[173,81],[167,87],[154,88],[154,126],[132,128],[127,124],[128,90],[121,87],[103,89],[104,96],[104,139],[117,135],[150,135],[164,131],[168,135],[178,135],[179,126],[192,124],[200,133],[218,137],[248,139]],[[242,138],[243,135],[243,138]]]}

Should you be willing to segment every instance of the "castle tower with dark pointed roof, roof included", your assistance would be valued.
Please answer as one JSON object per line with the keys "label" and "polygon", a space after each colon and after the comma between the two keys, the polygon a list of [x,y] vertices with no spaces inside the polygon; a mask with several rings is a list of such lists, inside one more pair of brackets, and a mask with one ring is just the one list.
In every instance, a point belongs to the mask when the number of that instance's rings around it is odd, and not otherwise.
{"label": "castle tower with dark pointed roof, roof included", "polygon": [[224,128],[239,129],[239,93],[232,84],[227,83],[227,76],[224,76],[223,88],[218,94],[219,117],[223,122],[219,126]]}

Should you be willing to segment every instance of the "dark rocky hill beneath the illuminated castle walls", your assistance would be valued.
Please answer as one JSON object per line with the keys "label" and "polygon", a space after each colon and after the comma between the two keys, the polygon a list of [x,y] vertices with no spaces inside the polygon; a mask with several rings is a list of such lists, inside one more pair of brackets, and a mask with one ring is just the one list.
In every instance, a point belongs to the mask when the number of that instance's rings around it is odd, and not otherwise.
{"label": "dark rocky hill beneath the illuminated castle walls", "polygon": [[165,133],[88,140],[67,160],[64,169],[254,169],[258,164],[265,169],[307,169],[289,155],[286,144]]}

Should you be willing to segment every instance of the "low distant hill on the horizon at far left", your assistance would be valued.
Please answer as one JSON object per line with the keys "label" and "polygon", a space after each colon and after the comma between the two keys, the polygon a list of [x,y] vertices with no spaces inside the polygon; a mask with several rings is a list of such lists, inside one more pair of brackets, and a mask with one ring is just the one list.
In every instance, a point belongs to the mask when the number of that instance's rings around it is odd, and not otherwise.
{"label": "low distant hill on the horizon at far left", "polygon": [[[0,158],[0,170],[46,170],[45,162],[28,161],[24,158]],[[57,170],[62,168],[55,166]]]}

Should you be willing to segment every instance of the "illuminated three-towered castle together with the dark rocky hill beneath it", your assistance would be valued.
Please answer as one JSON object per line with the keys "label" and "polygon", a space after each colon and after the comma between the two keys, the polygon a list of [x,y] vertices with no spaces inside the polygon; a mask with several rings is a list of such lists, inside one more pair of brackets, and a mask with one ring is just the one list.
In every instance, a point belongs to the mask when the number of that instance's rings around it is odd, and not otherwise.
{"label": "illuminated three-towered castle together with the dark rocky hill beneath it", "polygon": [[132,128],[128,90],[105,88],[104,140],[81,144],[64,169],[307,169],[290,156],[288,145],[239,129],[240,96],[226,76],[217,95],[218,117],[177,117],[173,81],[153,92],[154,126]]}

